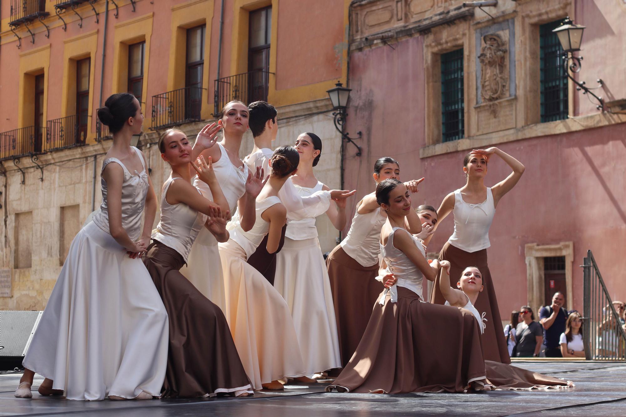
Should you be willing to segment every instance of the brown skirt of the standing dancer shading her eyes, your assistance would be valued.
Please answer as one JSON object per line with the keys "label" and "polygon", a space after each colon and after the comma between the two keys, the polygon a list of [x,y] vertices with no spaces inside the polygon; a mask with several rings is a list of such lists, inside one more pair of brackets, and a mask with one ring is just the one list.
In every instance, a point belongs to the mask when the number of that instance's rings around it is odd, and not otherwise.
{"label": "brown skirt of the standing dancer shading her eyes", "polygon": [[[480,269],[483,274],[483,286],[485,289],[478,294],[478,299],[474,306],[482,314],[485,312],[487,319],[485,333],[483,334],[483,353],[485,360],[500,363],[511,363],[506,346],[506,337],[500,320],[500,311],[498,310],[498,301],[496,300],[496,289],[493,286],[493,280],[487,266],[487,250],[478,250],[477,252],[465,252],[446,242],[439,253],[439,260],[448,260],[450,262],[450,286],[456,288],[456,282],[461,277],[461,272],[466,267],[475,266]],[[443,271],[443,269],[442,269]],[[441,272],[439,272],[441,274]],[[441,295],[439,286],[433,286],[431,292],[431,300],[433,304],[444,304],[446,299]]]}

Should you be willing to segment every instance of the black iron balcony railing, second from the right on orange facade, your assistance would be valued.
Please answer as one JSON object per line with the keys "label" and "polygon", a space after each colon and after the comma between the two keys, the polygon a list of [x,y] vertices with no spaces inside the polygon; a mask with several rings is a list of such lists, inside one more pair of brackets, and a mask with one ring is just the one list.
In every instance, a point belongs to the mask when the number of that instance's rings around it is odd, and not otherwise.
{"label": "black iron balcony railing, second from the right on orange facade", "polygon": [[151,130],[165,129],[190,121],[202,120],[202,91],[185,87],[152,96]]}

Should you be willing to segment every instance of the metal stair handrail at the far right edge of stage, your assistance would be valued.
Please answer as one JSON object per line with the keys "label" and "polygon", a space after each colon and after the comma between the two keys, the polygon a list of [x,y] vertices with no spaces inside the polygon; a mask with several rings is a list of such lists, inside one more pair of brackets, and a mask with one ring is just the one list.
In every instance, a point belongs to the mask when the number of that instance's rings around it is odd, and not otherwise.
{"label": "metal stair handrail at the far right edge of stage", "polygon": [[[585,358],[626,360],[626,332],[615,311],[592,251],[583,259],[583,341]],[[617,318],[615,318],[617,317]]]}

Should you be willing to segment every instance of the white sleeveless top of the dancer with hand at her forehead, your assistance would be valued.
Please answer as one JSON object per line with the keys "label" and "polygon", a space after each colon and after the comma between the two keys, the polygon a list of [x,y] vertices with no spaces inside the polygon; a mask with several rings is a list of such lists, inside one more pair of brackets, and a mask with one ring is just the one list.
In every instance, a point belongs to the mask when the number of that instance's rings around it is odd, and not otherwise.
{"label": "white sleeveless top of the dancer with hand at her forehead", "polygon": [[478,204],[463,201],[461,190],[454,192],[454,233],[448,239],[451,245],[465,252],[478,252],[491,246],[489,228],[496,212],[491,187],[487,187],[487,198]]}

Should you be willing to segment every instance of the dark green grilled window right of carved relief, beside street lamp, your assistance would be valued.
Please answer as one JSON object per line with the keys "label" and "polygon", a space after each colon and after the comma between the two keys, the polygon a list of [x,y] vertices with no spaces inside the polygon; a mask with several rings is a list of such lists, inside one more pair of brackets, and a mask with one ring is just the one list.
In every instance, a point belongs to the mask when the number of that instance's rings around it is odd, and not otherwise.
{"label": "dark green grilled window right of carved relief, beside street lamp", "polygon": [[567,74],[563,66],[563,48],[556,29],[562,20],[539,26],[541,72],[541,123],[567,119]]}

